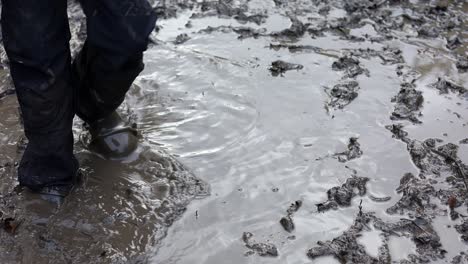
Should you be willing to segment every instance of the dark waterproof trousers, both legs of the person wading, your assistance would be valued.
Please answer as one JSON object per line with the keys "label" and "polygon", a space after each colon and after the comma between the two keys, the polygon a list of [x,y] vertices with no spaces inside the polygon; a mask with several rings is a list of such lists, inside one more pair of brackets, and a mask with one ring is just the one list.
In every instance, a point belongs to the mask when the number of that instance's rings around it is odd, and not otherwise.
{"label": "dark waterproof trousers, both legs of the person wading", "polygon": [[68,185],[75,114],[92,122],[113,112],[143,69],[156,17],[146,0],[81,0],[87,40],[72,63],[67,0],[2,0],[3,44],[28,146],[18,169],[31,189]]}

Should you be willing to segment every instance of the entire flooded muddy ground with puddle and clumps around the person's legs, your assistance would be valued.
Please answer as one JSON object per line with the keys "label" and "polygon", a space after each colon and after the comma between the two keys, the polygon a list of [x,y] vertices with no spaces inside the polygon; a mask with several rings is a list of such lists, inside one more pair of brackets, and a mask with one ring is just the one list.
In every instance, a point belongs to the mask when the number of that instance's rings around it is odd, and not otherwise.
{"label": "entire flooded muddy ground with puddle and clumps around the person's legs", "polygon": [[466,1],[153,4],[141,148],[100,160],[76,120],[60,207],[15,188],[3,56],[1,263],[468,263]]}

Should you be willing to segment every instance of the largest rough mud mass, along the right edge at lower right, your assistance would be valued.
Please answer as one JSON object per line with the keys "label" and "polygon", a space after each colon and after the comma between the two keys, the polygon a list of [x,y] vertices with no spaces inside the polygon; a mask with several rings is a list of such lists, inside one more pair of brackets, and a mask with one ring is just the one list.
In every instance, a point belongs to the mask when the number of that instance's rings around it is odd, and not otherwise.
{"label": "largest rough mud mass, along the right edge at lower right", "polygon": [[[407,213],[409,217],[415,218],[412,224],[407,225],[407,229],[413,233],[418,232],[413,241],[417,246],[420,260],[443,258],[445,250],[441,249],[439,238],[430,227],[429,219],[449,214],[450,218],[455,220],[461,216],[455,208],[461,206],[468,197],[468,167],[458,158],[458,146],[455,144],[440,145],[443,141],[435,138],[422,142],[412,140],[398,125],[387,128],[395,137],[407,144],[411,160],[419,169],[417,177],[411,173],[406,173],[402,177],[397,188],[397,192],[402,193],[402,197],[387,209],[387,213]],[[445,183],[438,180],[440,177],[445,177]],[[435,184],[438,184],[437,190]],[[449,213],[432,201],[436,198],[448,205]],[[462,240],[467,241],[466,220],[456,225],[455,229],[461,234]],[[457,259],[462,257],[454,258],[454,263],[459,263]]]}

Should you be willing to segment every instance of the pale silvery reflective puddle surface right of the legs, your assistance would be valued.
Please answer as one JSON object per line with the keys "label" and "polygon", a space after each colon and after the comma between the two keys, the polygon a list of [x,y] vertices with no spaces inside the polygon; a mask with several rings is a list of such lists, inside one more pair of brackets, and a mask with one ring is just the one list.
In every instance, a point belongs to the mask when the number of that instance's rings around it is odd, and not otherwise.
{"label": "pale silvery reflective puddle surface right of the legs", "polygon": [[[284,20],[281,10],[267,10],[270,19]],[[336,11],[342,9],[332,10],[329,16],[346,15]],[[313,11],[305,17],[309,15],[313,16]],[[418,72],[416,87],[425,97],[419,117],[422,124],[406,124],[412,138],[438,137],[458,143],[468,135],[466,99],[441,96],[427,87],[446,74],[462,85],[468,80],[466,74],[454,68],[453,58],[442,55],[448,54],[444,48],[441,51],[442,40],[356,43],[333,35],[316,39],[305,36],[294,44],[319,47],[320,52],[291,53],[287,49],[269,49],[271,43],[278,43],[269,37],[238,40],[233,32],[194,33],[207,26],[236,26],[238,22],[229,18],[192,19],[193,27],[186,28],[189,17],[181,15],[160,22],[160,42],[147,53],[147,73],[141,85],[153,89],[155,84],[148,81],[151,79],[157,83],[159,98],[168,103],[154,109],[142,102],[141,109],[145,113],[149,109],[159,111],[162,119],[177,120],[164,123],[156,131],[148,127],[145,133],[208,182],[212,195],[190,204],[157,248],[153,263],[311,263],[307,250],[317,241],[341,234],[359,211],[360,198],[338,211],[318,213],[315,206],[327,199],[329,188],[343,184],[352,175],[347,167],[370,178],[368,193],[391,197],[379,203],[364,196],[364,210],[389,221],[403,217],[385,213],[400,197],[395,189],[401,176],[418,171],[406,145],[393,139],[384,127],[394,122],[389,119],[394,107],[391,98],[398,93],[401,82],[395,74],[396,65],[382,65],[378,58],[361,59],[369,76],[357,77],[359,96],[343,110],[327,113],[324,87],[342,78],[342,73],[332,71],[331,65],[346,50],[378,50],[391,45],[403,51],[407,67]],[[278,24],[283,22],[262,26],[271,32],[278,30]],[[369,25],[353,29],[352,34],[379,35]],[[182,33],[191,39],[173,45],[171,42]],[[277,59],[304,68],[273,77],[268,67]],[[316,160],[346,149],[350,137],[359,138],[364,153],[361,158],[345,164],[332,158]],[[466,162],[465,146],[460,145],[459,155]],[[304,205],[294,215],[296,228],[289,234],[279,220],[295,200],[302,200]],[[466,208],[462,210],[466,212]],[[245,231],[252,232],[258,241],[275,244],[279,256],[244,256],[249,251],[241,238]],[[295,238],[291,239],[291,235]],[[439,235],[444,237],[444,233]],[[466,249],[456,232],[450,236],[454,237],[448,240]],[[400,252],[395,242],[390,242],[393,260],[415,253],[403,244],[400,246],[407,252]],[[370,255],[376,256],[378,245],[369,247]],[[451,251],[447,259],[459,252]]]}

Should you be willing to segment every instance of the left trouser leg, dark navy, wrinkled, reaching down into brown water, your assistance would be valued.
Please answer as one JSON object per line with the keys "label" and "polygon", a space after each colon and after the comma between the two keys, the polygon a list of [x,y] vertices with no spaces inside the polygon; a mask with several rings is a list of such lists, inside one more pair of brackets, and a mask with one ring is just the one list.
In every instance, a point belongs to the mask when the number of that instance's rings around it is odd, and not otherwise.
{"label": "left trouser leg, dark navy, wrinkled, reaching down into brown water", "polygon": [[73,96],[65,0],[2,0],[2,34],[29,140],[18,169],[23,186],[71,184]]}

